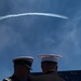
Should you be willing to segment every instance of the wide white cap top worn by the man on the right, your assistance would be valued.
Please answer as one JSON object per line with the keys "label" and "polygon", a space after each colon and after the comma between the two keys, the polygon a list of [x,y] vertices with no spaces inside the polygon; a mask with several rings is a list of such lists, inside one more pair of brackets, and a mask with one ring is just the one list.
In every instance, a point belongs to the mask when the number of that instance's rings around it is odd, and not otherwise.
{"label": "wide white cap top worn by the man on the right", "polygon": [[40,54],[39,57],[41,58],[41,62],[55,62],[59,58],[62,58],[60,55],[55,55],[55,54]]}

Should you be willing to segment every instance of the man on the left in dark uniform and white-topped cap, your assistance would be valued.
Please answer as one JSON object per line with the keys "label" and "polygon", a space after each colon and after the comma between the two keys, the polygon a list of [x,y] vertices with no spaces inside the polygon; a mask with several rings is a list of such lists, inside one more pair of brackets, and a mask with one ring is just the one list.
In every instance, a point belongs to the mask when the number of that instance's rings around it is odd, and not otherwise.
{"label": "man on the left in dark uniform and white-topped cap", "polygon": [[3,79],[3,81],[30,81],[30,69],[33,57],[19,56],[13,59],[14,73],[12,77]]}

